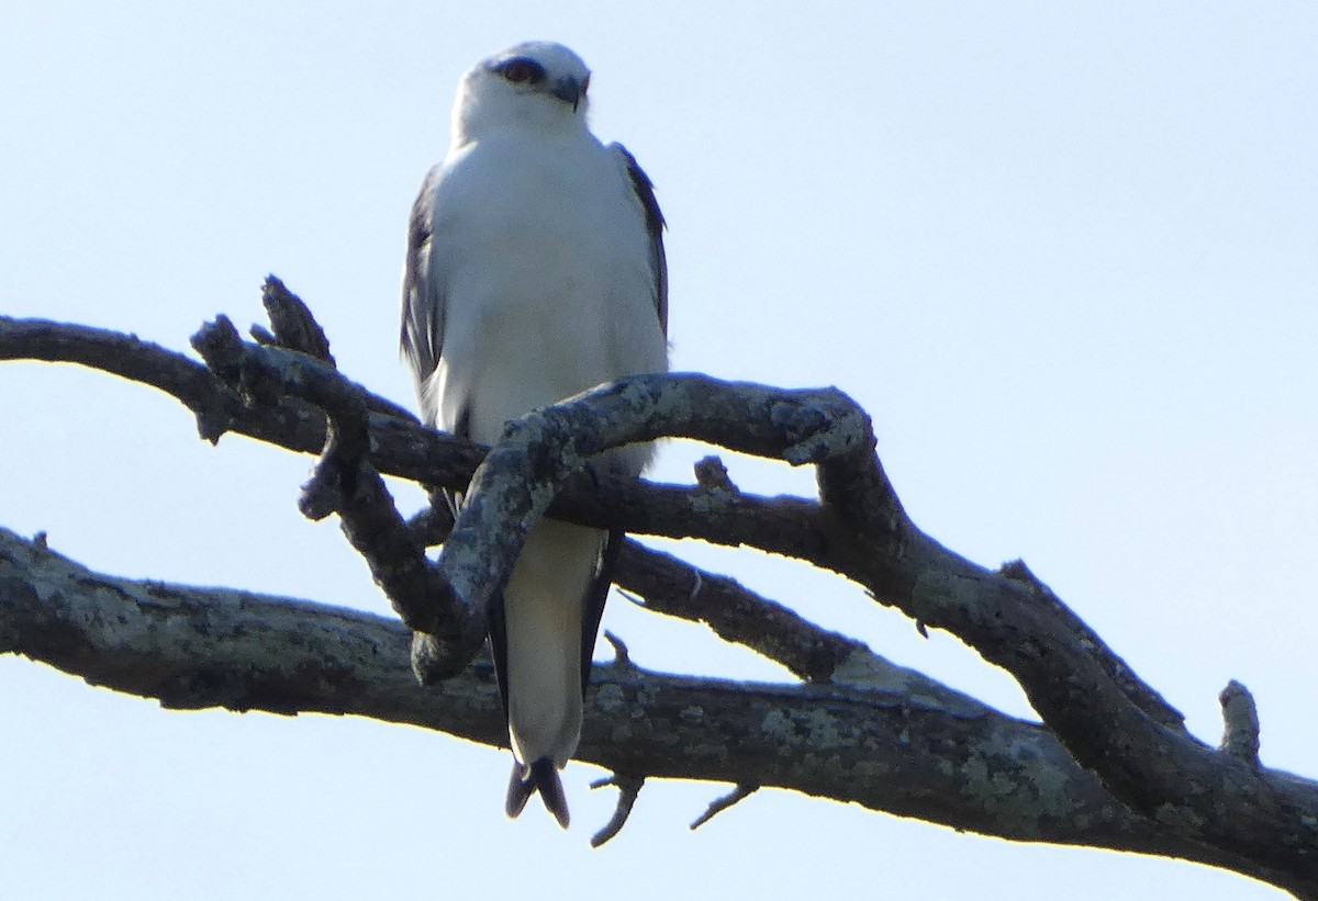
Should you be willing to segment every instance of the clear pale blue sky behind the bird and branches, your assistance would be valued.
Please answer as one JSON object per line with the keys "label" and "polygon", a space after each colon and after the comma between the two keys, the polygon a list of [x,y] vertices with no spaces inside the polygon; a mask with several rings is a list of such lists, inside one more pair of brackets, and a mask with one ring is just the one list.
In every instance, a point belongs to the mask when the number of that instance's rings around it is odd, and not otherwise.
{"label": "clear pale blue sky behind the bird and branches", "polygon": [[[1024,557],[1215,743],[1318,776],[1318,7],[1294,3],[0,0],[0,312],[185,349],[275,273],[340,366],[411,404],[407,211],[461,72],[527,38],[593,68],[593,125],[668,216],[673,368],[837,385],[916,522]],[[0,524],[92,568],[386,611],[310,458],[212,448],[149,389],[0,364]],[[700,448],[655,474],[689,481]],[[808,473],[730,460],[743,489]],[[415,493],[399,491],[415,507]],[[804,566],[680,553],[996,706],[1003,673]],[[616,602],[642,665],[783,678]],[[650,782],[600,851],[502,813],[507,753],[360,719],[170,713],[0,660],[13,898],[1277,898],[1243,877],[1014,846],[764,790]],[[490,889],[492,880],[505,888]]]}

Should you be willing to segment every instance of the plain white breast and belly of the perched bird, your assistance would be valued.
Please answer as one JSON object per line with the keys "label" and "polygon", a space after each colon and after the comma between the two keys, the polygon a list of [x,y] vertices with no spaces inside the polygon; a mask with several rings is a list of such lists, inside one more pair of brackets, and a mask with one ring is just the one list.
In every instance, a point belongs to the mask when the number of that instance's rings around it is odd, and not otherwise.
{"label": "plain white breast and belly of the perched bird", "polygon": [[469,144],[435,190],[442,428],[465,408],[471,437],[493,441],[513,416],[666,369],[642,209],[588,132]]}

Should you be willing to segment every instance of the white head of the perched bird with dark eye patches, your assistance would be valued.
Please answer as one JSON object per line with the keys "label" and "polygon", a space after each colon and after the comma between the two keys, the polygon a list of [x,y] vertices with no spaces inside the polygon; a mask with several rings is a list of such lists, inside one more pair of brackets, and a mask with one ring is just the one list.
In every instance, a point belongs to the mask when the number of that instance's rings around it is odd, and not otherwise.
{"label": "white head of the perched bird with dark eye patches", "polygon": [[457,88],[455,137],[532,124],[584,128],[590,70],[561,43],[527,41],[476,63]]}

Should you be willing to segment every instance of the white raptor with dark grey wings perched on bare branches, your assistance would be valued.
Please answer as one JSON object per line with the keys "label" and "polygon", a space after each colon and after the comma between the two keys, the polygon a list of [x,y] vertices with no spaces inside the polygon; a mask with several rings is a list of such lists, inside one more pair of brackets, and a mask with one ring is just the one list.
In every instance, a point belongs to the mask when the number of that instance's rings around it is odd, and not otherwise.
{"label": "white raptor with dark grey wings perched on bare branches", "polygon": [[[507,420],[626,375],[668,369],[668,267],[654,186],[587,123],[590,70],[548,41],[476,63],[451,142],[413,205],[402,354],[427,425],[493,444]],[[639,476],[652,445],[601,454]],[[451,495],[451,503],[460,498]],[[590,655],[619,531],[535,523],[486,620],[513,775],[564,829]]]}

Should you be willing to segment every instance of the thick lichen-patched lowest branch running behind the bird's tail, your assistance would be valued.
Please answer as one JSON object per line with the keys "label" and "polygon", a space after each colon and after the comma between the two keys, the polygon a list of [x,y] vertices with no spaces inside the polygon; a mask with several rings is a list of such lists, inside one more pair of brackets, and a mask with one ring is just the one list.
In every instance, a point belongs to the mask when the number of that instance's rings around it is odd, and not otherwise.
{"label": "thick lichen-patched lowest branch running behind the bird's tail", "polygon": [[[94,573],[0,530],[0,652],[166,707],[353,714],[492,746],[493,669],[423,688],[409,631],[351,610]],[[621,773],[789,788],[986,835],[1184,858],[1285,885],[1112,802],[1048,730],[890,689],[597,665],[580,757]],[[826,765],[821,760],[826,759]]]}

